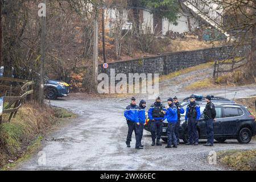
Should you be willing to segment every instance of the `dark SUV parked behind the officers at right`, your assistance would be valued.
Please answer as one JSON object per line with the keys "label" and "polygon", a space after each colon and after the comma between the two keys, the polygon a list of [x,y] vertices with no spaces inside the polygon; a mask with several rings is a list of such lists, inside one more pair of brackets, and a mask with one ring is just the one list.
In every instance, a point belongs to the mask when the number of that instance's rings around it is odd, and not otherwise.
{"label": "dark SUV parked behind the officers at right", "polygon": [[[240,143],[249,143],[256,134],[255,117],[245,106],[232,103],[214,103],[216,107],[216,121],[213,123],[214,139],[225,142],[226,139],[237,139]],[[199,103],[201,117],[197,122],[199,139],[207,138],[207,130],[203,110],[205,103]],[[167,141],[167,121],[163,122],[162,139]],[[187,123],[185,118],[180,118],[180,138],[188,142]]]}

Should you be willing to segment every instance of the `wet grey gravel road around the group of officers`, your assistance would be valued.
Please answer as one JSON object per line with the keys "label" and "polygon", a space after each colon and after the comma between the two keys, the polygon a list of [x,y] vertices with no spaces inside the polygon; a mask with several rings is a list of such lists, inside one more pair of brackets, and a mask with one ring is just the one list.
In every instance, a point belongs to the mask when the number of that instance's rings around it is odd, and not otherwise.
{"label": "wet grey gravel road around the group of officers", "polygon": [[[201,75],[201,71],[193,74]],[[197,79],[205,77],[196,76]],[[183,92],[184,82],[178,81],[184,75],[164,81],[160,90],[163,101],[167,97],[188,97],[189,91]],[[251,96],[256,93],[256,85],[208,90],[199,90],[199,94],[214,94],[227,98]],[[138,100],[144,96],[137,96]],[[185,146],[167,149],[163,146],[151,147],[150,133],[144,132],[144,150],[135,150],[135,137],[131,148],[125,144],[127,125],[123,111],[129,105],[130,98],[90,98],[87,100],[61,99],[52,101],[52,105],[65,107],[78,115],[68,126],[48,136],[44,140],[42,152],[45,158],[35,154],[31,159],[20,164],[21,170],[223,170],[219,164],[210,165],[207,156],[210,151],[228,149],[256,148],[256,141],[249,144],[239,144],[237,140],[227,140],[226,143],[214,143],[214,147],[205,147],[201,140],[199,146]],[[147,100],[147,107],[152,104]],[[166,102],[164,102],[166,104]],[[64,141],[50,140],[51,137]],[[43,162],[42,162],[43,161]]]}

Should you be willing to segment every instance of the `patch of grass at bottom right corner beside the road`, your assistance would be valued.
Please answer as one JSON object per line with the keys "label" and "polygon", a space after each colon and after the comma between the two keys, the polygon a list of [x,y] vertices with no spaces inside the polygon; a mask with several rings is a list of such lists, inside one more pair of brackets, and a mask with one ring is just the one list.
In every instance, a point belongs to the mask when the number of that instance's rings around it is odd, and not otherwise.
{"label": "patch of grass at bottom right corner beside the road", "polygon": [[227,150],[217,153],[218,161],[240,171],[256,170],[256,150]]}

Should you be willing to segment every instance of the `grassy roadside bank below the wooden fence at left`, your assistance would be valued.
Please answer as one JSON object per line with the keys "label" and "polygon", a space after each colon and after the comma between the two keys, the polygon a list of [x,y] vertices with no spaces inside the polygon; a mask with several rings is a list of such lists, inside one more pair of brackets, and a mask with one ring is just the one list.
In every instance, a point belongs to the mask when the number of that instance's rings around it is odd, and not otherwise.
{"label": "grassy roadside bank below the wooden fence at left", "polygon": [[7,121],[8,115],[3,115],[0,125],[0,168],[5,166],[3,169],[7,169],[15,166],[19,160],[27,159],[40,146],[42,136],[67,117],[75,117],[75,114],[62,108],[31,103],[20,107],[11,122]]}

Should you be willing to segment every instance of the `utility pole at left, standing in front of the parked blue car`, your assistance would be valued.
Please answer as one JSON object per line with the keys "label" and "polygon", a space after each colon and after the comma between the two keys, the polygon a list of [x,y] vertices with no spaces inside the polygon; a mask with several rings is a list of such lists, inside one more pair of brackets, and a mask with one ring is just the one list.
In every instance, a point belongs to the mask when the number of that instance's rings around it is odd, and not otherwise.
{"label": "utility pole at left, standing in front of the parked blue car", "polygon": [[[46,0],[44,0],[46,5]],[[42,34],[41,34],[41,63],[40,63],[40,85],[39,85],[39,104],[44,103],[44,61],[46,59],[46,15],[42,16]]]}

